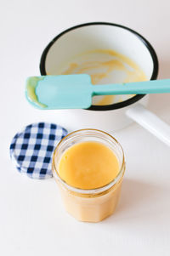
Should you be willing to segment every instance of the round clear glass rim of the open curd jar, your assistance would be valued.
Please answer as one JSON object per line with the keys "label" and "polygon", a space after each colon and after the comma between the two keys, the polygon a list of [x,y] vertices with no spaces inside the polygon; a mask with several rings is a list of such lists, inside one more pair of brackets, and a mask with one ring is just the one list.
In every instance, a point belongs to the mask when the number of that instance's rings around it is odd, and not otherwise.
{"label": "round clear glass rim of the open curd jar", "polygon": [[[56,165],[55,165],[55,161],[54,161],[54,157],[56,155],[56,151],[58,151],[59,146],[65,141],[65,139],[68,139],[71,135],[74,134],[78,134],[80,132],[83,131],[91,131],[91,132],[98,132],[100,134],[105,134],[106,136],[108,136],[109,139],[111,139],[112,141],[114,141],[116,143],[116,145],[119,146],[119,148],[122,151],[122,164],[119,170],[119,173],[116,175],[115,179],[111,180],[111,182],[107,185],[103,185],[99,188],[94,188],[94,189],[80,189],[71,185],[68,185],[64,179],[61,179],[61,177],[59,176],[59,173],[57,171]],[[70,134],[67,134],[63,139],[61,139],[59,141],[59,144],[56,146],[55,150],[54,150],[54,154],[53,154],[53,160],[52,160],[52,171],[53,171],[53,175],[55,179],[58,179],[59,182],[64,185],[69,191],[72,192],[77,192],[78,194],[99,194],[102,193],[104,191],[108,191],[109,189],[111,189],[111,187],[113,187],[114,185],[116,185],[116,183],[122,178],[124,171],[125,171],[125,156],[124,156],[124,151],[122,149],[122,145],[117,141],[117,139],[115,139],[111,134],[108,134],[102,130],[99,129],[94,129],[94,128],[84,128],[84,129],[78,129],[74,132],[71,132]]]}

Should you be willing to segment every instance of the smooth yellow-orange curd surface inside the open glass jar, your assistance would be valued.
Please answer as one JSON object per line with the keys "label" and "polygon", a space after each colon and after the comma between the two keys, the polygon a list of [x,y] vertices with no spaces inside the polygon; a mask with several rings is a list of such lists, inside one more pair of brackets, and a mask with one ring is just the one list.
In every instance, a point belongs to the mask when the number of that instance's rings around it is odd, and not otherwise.
{"label": "smooth yellow-orange curd surface inside the open glass jar", "polygon": [[60,159],[59,176],[68,185],[96,189],[109,184],[119,172],[119,162],[106,145],[86,141],[71,146]]}

